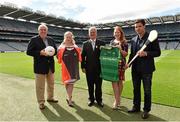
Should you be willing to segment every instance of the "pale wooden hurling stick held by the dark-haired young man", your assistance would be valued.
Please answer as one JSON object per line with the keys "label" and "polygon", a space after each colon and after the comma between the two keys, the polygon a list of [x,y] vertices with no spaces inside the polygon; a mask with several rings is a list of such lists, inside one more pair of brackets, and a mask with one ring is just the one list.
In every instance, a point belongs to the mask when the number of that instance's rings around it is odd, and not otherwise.
{"label": "pale wooden hurling stick held by the dark-haired young man", "polygon": [[[156,40],[158,36],[158,32],[156,30],[152,30],[148,36],[147,41],[145,42],[145,44],[142,46],[142,48],[139,51],[143,51],[147,45],[151,42],[153,42],[154,40]],[[130,64],[138,57],[138,54],[136,54],[133,59],[128,63],[128,66],[130,66]]]}

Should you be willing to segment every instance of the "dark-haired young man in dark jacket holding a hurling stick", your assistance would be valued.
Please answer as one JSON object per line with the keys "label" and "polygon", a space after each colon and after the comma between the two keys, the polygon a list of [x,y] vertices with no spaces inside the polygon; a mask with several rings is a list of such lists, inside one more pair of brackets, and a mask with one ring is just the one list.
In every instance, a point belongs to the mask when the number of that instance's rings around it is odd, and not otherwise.
{"label": "dark-haired young man in dark jacket holding a hurling stick", "polygon": [[135,31],[137,36],[131,40],[131,54],[130,60],[138,54],[138,57],[132,63],[132,81],[133,81],[133,108],[129,110],[129,113],[135,113],[140,111],[141,106],[141,80],[144,87],[144,112],[142,118],[146,119],[149,117],[151,110],[151,86],[152,76],[155,71],[154,57],[158,57],[161,54],[158,39],[150,43],[144,51],[139,51],[148,39],[149,33],[145,30],[145,21],[139,19],[135,22]]}

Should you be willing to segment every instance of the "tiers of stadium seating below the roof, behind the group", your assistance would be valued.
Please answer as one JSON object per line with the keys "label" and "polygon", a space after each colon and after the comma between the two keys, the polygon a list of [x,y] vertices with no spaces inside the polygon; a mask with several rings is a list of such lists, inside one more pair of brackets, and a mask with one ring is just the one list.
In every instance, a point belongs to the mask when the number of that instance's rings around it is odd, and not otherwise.
{"label": "tiers of stadium seating below the roof, behind the group", "polygon": [[[0,18],[0,51],[25,51],[32,36],[38,33],[37,23],[19,21],[15,19]],[[180,49],[180,23],[166,23],[147,25],[146,29],[156,29],[159,32],[161,49]],[[59,45],[66,31],[73,32],[76,43],[81,45],[88,39],[88,30],[60,28],[48,26],[48,34],[53,37]],[[126,39],[129,41],[134,35],[134,27],[123,27]],[[98,38],[109,43],[113,37],[113,28],[98,29]]]}

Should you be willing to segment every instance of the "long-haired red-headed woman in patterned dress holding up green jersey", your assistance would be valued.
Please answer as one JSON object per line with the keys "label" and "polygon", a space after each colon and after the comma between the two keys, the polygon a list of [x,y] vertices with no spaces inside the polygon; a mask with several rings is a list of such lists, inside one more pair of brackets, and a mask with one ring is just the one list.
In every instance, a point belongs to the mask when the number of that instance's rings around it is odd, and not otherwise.
{"label": "long-haired red-headed woman in patterned dress holding up green jersey", "polygon": [[118,47],[121,53],[122,59],[119,61],[118,71],[119,71],[119,81],[112,82],[112,87],[114,91],[115,101],[113,103],[113,109],[119,109],[121,101],[121,93],[123,90],[123,82],[125,81],[125,64],[126,56],[128,55],[128,43],[126,41],[125,35],[121,27],[116,26],[114,28],[114,40],[110,42],[110,45]]}

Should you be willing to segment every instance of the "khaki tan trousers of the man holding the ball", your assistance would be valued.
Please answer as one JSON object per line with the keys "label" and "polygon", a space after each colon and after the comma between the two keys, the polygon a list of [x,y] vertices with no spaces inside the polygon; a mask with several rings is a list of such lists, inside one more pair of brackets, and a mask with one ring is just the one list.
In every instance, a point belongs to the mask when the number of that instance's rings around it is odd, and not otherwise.
{"label": "khaki tan trousers of the man holding the ball", "polygon": [[54,73],[49,70],[48,74],[35,74],[36,97],[39,104],[44,104],[45,81],[47,81],[47,99],[54,97]]}

